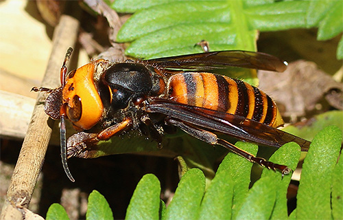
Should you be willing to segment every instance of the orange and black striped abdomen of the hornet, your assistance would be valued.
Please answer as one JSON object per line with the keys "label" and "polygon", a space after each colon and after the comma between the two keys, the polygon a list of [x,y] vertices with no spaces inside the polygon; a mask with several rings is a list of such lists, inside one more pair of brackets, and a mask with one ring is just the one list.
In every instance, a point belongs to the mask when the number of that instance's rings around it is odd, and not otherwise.
{"label": "orange and black striped abdomen of the hornet", "polygon": [[283,120],[275,102],[241,80],[210,73],[175,74],[168,82],[169,98],[183,104],[240,115],[277,127]]}

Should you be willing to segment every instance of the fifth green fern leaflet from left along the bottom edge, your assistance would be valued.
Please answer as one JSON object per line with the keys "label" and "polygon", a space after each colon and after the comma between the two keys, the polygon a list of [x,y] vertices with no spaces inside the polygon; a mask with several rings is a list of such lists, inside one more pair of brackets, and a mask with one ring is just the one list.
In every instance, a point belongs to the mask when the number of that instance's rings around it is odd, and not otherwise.
{"label": "fifth green fern leaflet from left along the bottom edge", "polygon": [[225,172],[217,173],[202,199],[199,219],[231,219],[233,180]]}

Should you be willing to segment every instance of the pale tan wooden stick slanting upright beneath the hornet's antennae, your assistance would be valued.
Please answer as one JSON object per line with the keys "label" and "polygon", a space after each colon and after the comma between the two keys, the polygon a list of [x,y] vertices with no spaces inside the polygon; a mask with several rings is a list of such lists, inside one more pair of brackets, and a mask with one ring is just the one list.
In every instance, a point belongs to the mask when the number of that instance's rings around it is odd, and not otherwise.
{"label": "pale tan wooden stick slanting upright beneath the hornet's antennae", "polygon": [[[68,47],[75,44],[79,25],[79,21],[73,17],[62,15],[60,18],[60,23],[54,31],[53,48],[42,86],[56,88],[60,85],[59,72],[64,54]],[[49,120],[43,110],[46,96],[47,94],[41,93],[36,100],[34,113],[14,168],[0,219],[23,219],[25,217],[23,208],[28,207],[32,198],[54,124],[54,121]],[[23,202],[21,203],[21,201]]]}

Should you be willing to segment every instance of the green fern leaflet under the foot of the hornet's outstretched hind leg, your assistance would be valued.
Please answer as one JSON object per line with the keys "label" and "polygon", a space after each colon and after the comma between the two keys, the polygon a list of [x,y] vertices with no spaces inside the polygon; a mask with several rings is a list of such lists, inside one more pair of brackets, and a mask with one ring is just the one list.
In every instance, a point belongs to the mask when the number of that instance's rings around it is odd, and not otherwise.
{"label": "green fern leaflet under the foot of the hornet's outstretched hind leg", "polygon": [[[295,169],[299,157],[298,144],[288,143],[279,148],[269,161]],[[291,175],[282,177],[280,172],[263,169],[261,179],[252,186],[244,198],[237,219],[287,219],[286,194],[290,180]]]}

